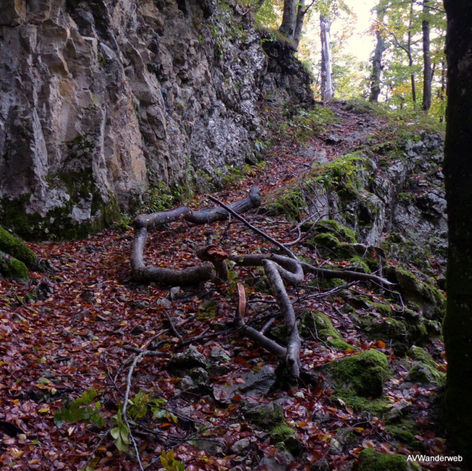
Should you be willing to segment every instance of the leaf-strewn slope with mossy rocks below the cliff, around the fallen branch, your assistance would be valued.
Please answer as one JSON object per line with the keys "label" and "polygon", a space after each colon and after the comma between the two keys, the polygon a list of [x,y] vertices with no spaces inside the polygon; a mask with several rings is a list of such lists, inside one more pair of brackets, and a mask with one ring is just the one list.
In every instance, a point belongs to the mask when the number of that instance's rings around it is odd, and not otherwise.
{"label": "leaf-strewn slope with mossy rocks below the cliff, around the fallen branch", "polygon": [[[285,283],[299,378],[247,338],[250,326],[285,348],[291,333],[261,268],[238,266],[276,247],[235,217],[177,220],[146,243],[145,260],[157,267],[200,265],[206,244],[231,254],[219,284],[134,281],[130,217],[75,242],[30,243],[44,271],[0,285],[4,466],[412,470],[407,455],[450,454],[441,134],[361,102],[263,112],[271,138],[258,142],[259,161],[227,169],[218,191],[203,178],[184,203],[204,208],[207,193],[232,203],[257,184],[261,205],[245,220],[297,242],[290,250],[314,267],[316,275]],[[177,203],[156,194],[146,212]],[[246,326],[235,321],[238,284]],[[117,415],[128,393],[141,465]]]}

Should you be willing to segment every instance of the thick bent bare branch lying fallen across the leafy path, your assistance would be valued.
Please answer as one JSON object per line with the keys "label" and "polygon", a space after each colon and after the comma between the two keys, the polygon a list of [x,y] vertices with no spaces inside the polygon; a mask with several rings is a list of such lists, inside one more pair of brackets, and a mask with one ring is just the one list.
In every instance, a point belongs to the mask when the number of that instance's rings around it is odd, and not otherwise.
{"label": "thick bent bare branch lying fallen across the leafy path", "polygon": [[[235,203],[225,205],[216,198],[209,197],[220,208],[206,208],[203,210],[191,210],[185,206],[180,206],[168,211],[153,213],[150,215],[139,215],[134,220],[134,240],[131,247],[131,270],[134,280],[140,282],[158,282],[163,285],[196,285],[199,282],[211,280],[220,285],[228,281],[227,261],[232,261],[236,266],[252,266],[262,267],[269,279],[269,284],[276,298],[288,332],[288,345],[284,347],[274,340],[266,337],[263,330],[256,330],[247,326],[244,321],[245,311],[245,293],[244,287],[238,285],[239,302],[237,308],[237,327],[247,337],[256,341],[269,352],[283,359],[288,366],[290,374],[297,378],[300,376],[300,347],[301,340],[297,329],[295,311],[290,297],[285,289],[285,282],[291,285],[300,285],[304,281],[303,271],[321,275],[324,278],[343,278],[345,280],[366,280],[377,282],[384,285],[392,283],[384,278],[367,273],[357,273],[354,271],[332,271],[324,268],[318,268],[309,263],[299,261],[295,254],[288,249],[287,246],[281,244],[251,225],[239,213],[243,213],[252,208],[256,208],[261,203],[259,189],[253,186],[249,195]],[[223,220],[230,215],[234,215],[237,219],[252,229],[257,235],[271,242],[278,247],[286,256],[278,254],[243,254],[228,255],[225,251],[213,244],[201,247],[197,251],[197,256],[201,261],[206,262],[201,266],[191,268],[177,269],[164,268],[160,266],[146,265],[143,254],[148,237],[148,229],[158,227],[159,225],[177,220],[186,220],[193,224],[206,224],[217,220]],[[133,350],[136,351],[136,350]],[[136,351],[142,354],[140,351]]]}

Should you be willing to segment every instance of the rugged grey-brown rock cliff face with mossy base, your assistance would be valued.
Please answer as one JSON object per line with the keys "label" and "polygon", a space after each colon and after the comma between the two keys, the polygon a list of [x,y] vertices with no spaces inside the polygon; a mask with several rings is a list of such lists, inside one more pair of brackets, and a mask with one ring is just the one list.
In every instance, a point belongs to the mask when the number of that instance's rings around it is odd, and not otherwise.
{"label": "rugged grey-brown rock cliff face with mossy base", "polygon": [[244,162],[263,97],[312,100],[249,16],[212,0],[4,0],[0,223],[80,236],[153,181]]}

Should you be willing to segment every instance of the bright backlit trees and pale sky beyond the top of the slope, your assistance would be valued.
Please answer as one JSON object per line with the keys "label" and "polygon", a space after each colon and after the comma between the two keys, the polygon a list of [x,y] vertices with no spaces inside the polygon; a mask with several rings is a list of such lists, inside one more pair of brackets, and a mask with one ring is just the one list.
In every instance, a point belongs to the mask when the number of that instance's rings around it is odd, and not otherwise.
{"label": "bright backlit trees and pale sky beyond the top of the slope", "polygon": [[[293,0],[259,1],[254,5],[256,24],[293,42],[319,98],[326,82],[324,64],[331,59],[334,97],[365,97],[391,109],[424,109],[444,119],[446,16],[441,1],[372,1],[370,18],[359,18],[353,1],[302,0],[295,2],[297,14],[288,27],[293,5]],[[323,46],[326,25],[330,58]],[[353,44],[370,48],[370,57],[353,54]]]}

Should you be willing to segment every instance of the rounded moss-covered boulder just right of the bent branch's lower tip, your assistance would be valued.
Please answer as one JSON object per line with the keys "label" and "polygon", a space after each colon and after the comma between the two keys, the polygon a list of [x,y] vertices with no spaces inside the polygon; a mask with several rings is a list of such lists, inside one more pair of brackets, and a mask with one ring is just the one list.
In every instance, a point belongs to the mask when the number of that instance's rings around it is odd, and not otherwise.
{"label": "rounded moss-covered boulder just right of the bent branch's lower tip", "polygon": [[382,352],[366,350],[325,364],[321,373],[339,397],[379,398],[389,376],[389,362]]}

